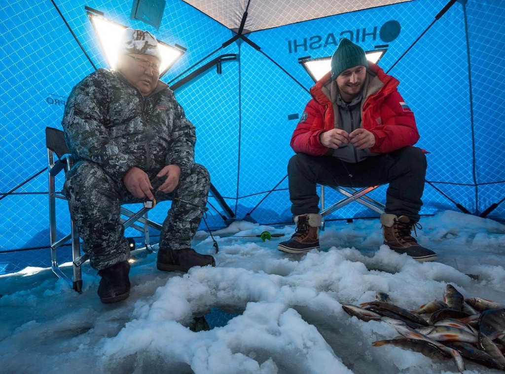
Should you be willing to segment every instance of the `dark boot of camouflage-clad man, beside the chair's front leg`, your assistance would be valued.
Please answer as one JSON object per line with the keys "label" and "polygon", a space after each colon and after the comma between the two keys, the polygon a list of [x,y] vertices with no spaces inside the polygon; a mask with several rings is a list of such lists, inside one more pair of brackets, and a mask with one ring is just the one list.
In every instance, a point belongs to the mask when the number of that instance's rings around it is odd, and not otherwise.
{"label": "dark boot of camouflage-clad man, beside the chair's front leg", "polygon": [[98,296],[104,304],[116,303],[130,296],[130,263],[118,262],[110,267],[98,270],[102,277],[98,285]]}

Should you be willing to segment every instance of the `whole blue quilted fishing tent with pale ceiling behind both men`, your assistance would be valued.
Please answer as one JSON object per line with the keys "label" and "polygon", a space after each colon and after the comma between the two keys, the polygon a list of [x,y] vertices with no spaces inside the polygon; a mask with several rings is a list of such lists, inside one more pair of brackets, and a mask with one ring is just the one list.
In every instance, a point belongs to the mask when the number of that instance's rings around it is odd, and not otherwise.
{"label": "whole blue quilted fishing tent with pale ceiling behind both men", "polygon": [[[418,146],[430,152],[421,214],[505,219],[501,0],[17,0],[0,5],[4,272],[48,258],[44,129],[61,128],[72,87],[108,67],[90,15],[184,51],[162,80],[197,129],[196,161],[215,187],[211,228],[228,218],[291,222],[289,141],[314,84],[301,62],[331,56],[343,37],[385,52],[379,65],[400,80],[416,115]],[[372,197],[384,200],[384,187]],[[66,202],[57,208],[68,231]],[[350,204],[328,219],[373,216]],[[42,255],[16,263],[26,250]]]}

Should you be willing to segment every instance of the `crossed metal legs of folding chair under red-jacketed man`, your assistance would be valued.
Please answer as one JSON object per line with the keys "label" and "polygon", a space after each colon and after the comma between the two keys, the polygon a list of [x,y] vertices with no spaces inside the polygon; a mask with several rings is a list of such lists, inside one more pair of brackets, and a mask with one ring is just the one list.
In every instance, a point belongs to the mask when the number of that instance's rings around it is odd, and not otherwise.
{"label": "crossed metal legs of folding chair under red-jacketed man", "polygon": [[322,223],[321,223],[321,229],[324,229],[324,217],[327,216],[330,213],[333,213],[334,211],[342,208],[343,206],[356,201],[357,203],[360,203],[367,208],[370,208],[374,211],[376,211],[379,214],[385,213],[384,209],[386,208],[384,204],[366,196],[369,192],[375,190],[376,188],[380,187],[381,184],[379,185],[372,185],[368,186],[365,188],[362,188],[360,190],[356,190],[351,187],[342,187],[342,186],[328,186],[332,188],[333,190],[339,192],[340,194],[344,195],[345,198],[342,200],[330,205],[328,208],[325,208],[325,194],[324,194],[324,189],[325,186],[321,185],[321,197],[320,197],[320,203],[321,203],[321,211],[320,214],[323,218]]}

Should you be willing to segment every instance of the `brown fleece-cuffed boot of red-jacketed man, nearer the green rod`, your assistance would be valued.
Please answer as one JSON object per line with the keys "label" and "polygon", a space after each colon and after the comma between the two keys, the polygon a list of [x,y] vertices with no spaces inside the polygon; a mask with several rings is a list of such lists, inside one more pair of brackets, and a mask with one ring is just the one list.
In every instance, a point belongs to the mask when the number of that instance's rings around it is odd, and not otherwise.
{"label": "brown fleece-cuffed boot of red-jacketed man, nearer the green rod", "polygon": [[287,253],[305,253],[319,249],[319,226],[321,215],[310,213],[294,217],[296,230],[290,240],[281,242],[277,249]]}

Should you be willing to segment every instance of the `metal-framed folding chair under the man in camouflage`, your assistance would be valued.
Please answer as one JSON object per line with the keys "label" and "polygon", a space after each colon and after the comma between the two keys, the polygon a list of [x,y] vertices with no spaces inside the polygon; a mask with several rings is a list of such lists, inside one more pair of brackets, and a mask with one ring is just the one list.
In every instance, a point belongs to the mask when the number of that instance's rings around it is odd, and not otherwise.
{"label": "metal-framed folding chair under the man in camouflage", "polygon": [[[62,279],[65,279],[69,285],[77,292],[82,290],[81,265],[88,259],[88,255],[81,255],[79,245],[79,233],[72,219],[70,220],[70,233],[64,238],[58,240],[56,231],[56,199],[67,200],[62,192],[57,192],[55,188],[55,177],[64,170],[65,172],[72,167],[73,159],[65,144],[64,132],[62,130],[46,127],[45,128],[45,146],[47,148],[48,174],[49,174],[49,238],[51,240],[51,268],[53,272]],[[55,155],[57,159],[55,159]],[[153,248],[149,242],[149,227],[161,231],[162,225],[151,221],[147,217],[147,212],[154,208],[154,203],[147,201],[143,203],[143,207],[137,212],[133,212],[125,207],[121,207],[121,214],[126,218],[121,217],[121,222],[125,228],[132,227],[143,232],[145,250],[153,252]],[[137,224],[138,223],[138,224]],[[67,277],[60,268],[58,263],[58,249],[71,240],[72,245],[72,265],[73,277],[72,280]],[[135,242],[129,240],[130,247],[134,249]]]}

